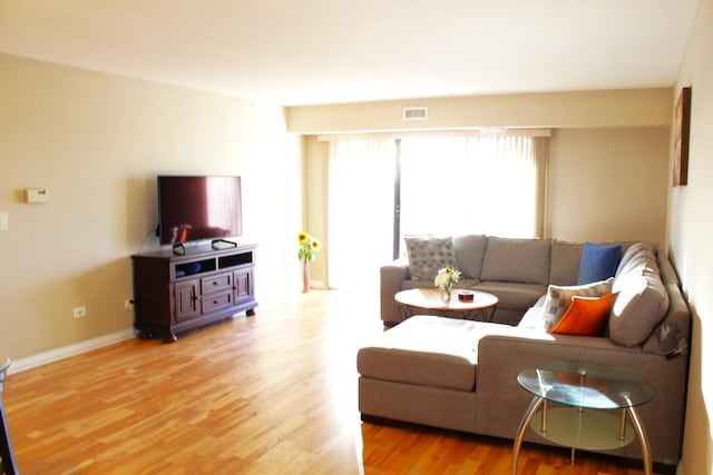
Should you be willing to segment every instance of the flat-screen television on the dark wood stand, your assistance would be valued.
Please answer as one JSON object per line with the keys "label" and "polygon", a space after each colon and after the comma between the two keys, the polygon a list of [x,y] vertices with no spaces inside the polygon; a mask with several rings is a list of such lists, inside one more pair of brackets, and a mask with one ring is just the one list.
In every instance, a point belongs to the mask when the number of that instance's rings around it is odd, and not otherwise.
{"label": "flat-screen television on the dark wood stand", "polygon": [[162,245],[241,236],[241,177],[157,177]]}

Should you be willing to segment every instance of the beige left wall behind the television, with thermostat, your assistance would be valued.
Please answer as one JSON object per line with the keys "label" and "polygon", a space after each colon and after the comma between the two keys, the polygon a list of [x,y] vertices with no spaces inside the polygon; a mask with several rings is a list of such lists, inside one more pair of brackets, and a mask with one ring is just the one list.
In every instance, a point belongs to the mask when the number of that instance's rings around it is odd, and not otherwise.
{"label": "beige left wall behind the television, with thermostat", "polygon": [[[0,352],[127,330],[129,256],[157,247],[157,174],[243,177],[257,299],[300,286],[302,144],[282,108],[0,55]],[[28,187],[51,200],[22,201]],[[87,317],[71,309],[86,305]],[[260,313],[260,308],[257,309]]]}

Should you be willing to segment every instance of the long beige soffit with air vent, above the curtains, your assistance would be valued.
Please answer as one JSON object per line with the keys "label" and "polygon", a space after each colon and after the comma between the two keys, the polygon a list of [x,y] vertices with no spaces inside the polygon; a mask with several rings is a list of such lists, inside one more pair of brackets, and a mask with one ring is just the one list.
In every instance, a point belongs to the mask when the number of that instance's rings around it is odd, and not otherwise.
{"label": "long beige soffit with air vent, above the curtains", "polygon": [[[289,107],[300,133],[473,127],[652,127],[671,123],[671,88],[470,96]],[[404,107],[428,107],[427,121],[404,121]]]}

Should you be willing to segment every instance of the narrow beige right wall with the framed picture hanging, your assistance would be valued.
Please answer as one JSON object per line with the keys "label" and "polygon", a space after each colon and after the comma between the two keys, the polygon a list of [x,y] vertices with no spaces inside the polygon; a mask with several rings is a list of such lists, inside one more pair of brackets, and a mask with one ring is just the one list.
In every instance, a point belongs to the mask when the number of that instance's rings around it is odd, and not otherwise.
{"label": "narrow beige right wall with the framed picture hanging", "polygon": [[[692,87],[688,186],[668,188],[671,255],[694,315],[683,467],[713,473],[713,0],[701,0],[671,101]],[[671,155],[673,157],[673,154]],[[673,169],[673,158],[671,161]]]}

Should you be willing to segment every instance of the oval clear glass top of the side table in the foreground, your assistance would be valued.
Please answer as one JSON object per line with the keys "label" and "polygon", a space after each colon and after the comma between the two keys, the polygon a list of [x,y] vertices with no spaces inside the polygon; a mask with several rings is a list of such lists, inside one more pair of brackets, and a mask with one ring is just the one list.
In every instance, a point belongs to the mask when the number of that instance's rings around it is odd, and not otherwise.
{"label": "oval clear glass top of the side table in the foreground", "polygon": [[517,382],[535,396],[567,406],[617,409],[654,398],[645,380],[616,369],[583,363],[555,363],[525,369]]}

